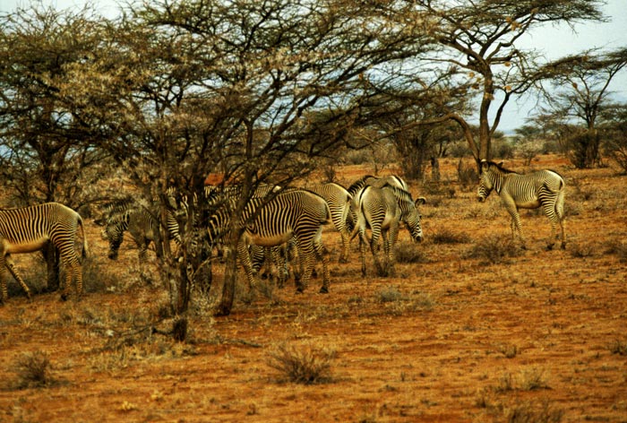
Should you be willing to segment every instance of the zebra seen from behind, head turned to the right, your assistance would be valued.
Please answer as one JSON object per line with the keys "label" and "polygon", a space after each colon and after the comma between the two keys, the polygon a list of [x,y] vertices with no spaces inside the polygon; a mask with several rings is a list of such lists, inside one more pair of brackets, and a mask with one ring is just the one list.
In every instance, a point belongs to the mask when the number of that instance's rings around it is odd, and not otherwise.
{"label": "zebra seen from behind, head turned to the right", "polygon": [[[399,237],[399,223],[405,222],[409,234],[416,241],[423,238],[421,226],[422,216],[418,206],[426,202],[425,197],[418,197],[416,202],[411,194],[396,186],[365,186],[356,194],[354,209],[357,211],[357,224],[351,238],[359,234],[359,252],[361,255],[361,272],[365,277],[365,229],[372,231],[370,250],[374,258],[377,272],[382,276],[390,275],[394,268],[394,245]],[[383,251],[386,257],[385,267],[382,266],[378,254],[379,237],[383,240]]]}

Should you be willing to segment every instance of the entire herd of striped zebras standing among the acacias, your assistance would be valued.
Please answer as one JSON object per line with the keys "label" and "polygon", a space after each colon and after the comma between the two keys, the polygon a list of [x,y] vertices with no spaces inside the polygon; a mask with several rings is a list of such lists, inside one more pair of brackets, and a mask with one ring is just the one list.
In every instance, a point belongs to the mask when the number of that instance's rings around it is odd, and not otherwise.
{"label": "entire herd of striped zebras standing among the acacias", "polygon": [[[494,190],[511,215],[512,237],[518,234],[524,246],[525,238],[520,227],[520,208],[541,207],[551,222],[552,238],[549,248],[554,246],[557,224],[561,227],[562,248],[564,234],[564,180],[552,170],[541,170],[521,175],[492,161],[481,162],[477,197],[480,202]],[[171,194],[171,193],[170,193]],[[412,239],[422,240],[419,206],[424,197],[412,199],[408,185],[397,176],[359,178],[344,188],[329,183],[309,189],[262,186],[245,203],[239,221],[231,221],[234,204],[239,199],[238,188],[217,189],[205,187],[204,193],[191,201],[208,203],[213,207],[207,220],[206,239],[211,248],[229,245],[229,230],[232,224],[241,228],[237,239],[237,259],[245,269],[249,287],[256,283],[257,272],[265,260],[275,262],[281,250],[297,256],[300,272],[296,274],[296,290],[303,292],[314,271],[316,261],[322,263],[322,287],[320,292],[329,292],[330,276],[323,254],[322,228],[331,223],[341,237],[339,262],[348,260],[350,240],[358,236],[362,274],[365,276],[365,249],[369,245],[377,272],[389,275],[394,266],[394,245],[399,236],[401,222],[405,224]],[[178,202],[179,209],[189,206],[185,199]],[[173,202],[174,204],[175,202]],[[207,205],[207,204],[205,204]],[[102,237],[109,244],[109,258],[116,259],[124,233],[133,237],[139,248],[139,261],[146,260],[150,243],[160,251],[160,224],[158,215],[132,199],[106,204],[102,216],[95,222],[102,226]],[[181,245],[176,210],[167,212],[167,233],[177,245]],[[179,210],[180,212],[180,210]],[[87,240],[81,216],[59,203],[45,203],[21,209],[0,209],[0,305],[7,299],[6,280],[9,274],[19,281],[30,298],[30,289],[21,279],[13,265],[12,254],[38,251],[51,242],[60,252],[61,262],[66,268],[66,283],[62,298],[70,293],[75,280],[78,298],[82,295],[82,268],[76,252],[78,229],[82,229],[82,256],[87,254]],[[370,239],[366,230],[370,229]],[[382,240],[383,259],[379,241]],[[289,254],[284,254],[289,256]]]}

